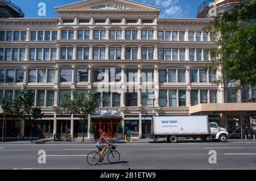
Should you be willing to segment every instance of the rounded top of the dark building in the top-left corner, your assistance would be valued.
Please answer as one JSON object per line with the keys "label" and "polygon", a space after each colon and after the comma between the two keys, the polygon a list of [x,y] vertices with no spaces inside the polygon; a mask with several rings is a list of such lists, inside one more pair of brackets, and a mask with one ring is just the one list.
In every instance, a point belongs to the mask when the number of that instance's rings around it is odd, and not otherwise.
{"label": "rounded top of the dark building in the top-left corner", "polygon": [[24,13],[10,0],[0,0],[0,18],[24,18]]}

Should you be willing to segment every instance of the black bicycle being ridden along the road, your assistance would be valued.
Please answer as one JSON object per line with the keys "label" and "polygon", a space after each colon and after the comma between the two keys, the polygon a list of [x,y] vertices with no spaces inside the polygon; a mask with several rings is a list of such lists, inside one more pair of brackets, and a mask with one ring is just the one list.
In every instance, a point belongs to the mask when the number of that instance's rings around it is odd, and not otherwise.
{"label": "black bicycle being ridden along the road", "polygon": [[103,157],[100,156],[102,149],[98,149],[98,151],[91,151],[86,158],[89,165],[97,165],[99,162],[103,162],[104,157],[106,155],[108,155],[107,158],[110,164],[118,163],[120,160],[120,154],[118,151],[115,150],[117,146],[116,145],[112,145],[111,147],[110,145],[108,146],[109,146],[108,151]]}

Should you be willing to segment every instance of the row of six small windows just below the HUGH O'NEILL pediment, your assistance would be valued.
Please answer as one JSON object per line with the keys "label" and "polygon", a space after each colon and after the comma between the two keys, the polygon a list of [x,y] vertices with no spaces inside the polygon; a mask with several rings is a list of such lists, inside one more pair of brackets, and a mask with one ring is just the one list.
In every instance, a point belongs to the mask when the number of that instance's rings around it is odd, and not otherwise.
{"label": "row of six small windows just below the HUGH O'NEILL pediment", "polygon": [[[72,24],[75,22],[74,19],[63,19],[62,22],[64,24]],[[91,23],[90,19],[78,19],[77,21],[79,24],[84,24],[84,23]],[[137,24],[139,21],[138,19],[126,19],[125,20],[126,24]],[[94,23],[106,23],[106,19],[94,19]],[[122,19],[109,19],[110,24],[120,24],[123,23]],[[154,19],[141,19],[142,24],[152,24],[154,23]]]}

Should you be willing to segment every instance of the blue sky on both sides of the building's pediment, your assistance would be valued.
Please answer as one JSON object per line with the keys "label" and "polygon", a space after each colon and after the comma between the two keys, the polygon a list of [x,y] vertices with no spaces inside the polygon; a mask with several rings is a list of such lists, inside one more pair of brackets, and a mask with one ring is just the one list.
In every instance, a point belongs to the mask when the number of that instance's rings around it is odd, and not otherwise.
{"label": "blue sky on both sides of the building's pediment", "polygon": [[[54,7],[81,0],[11,0],[18,5],[26,18],[56,18]],[[162,8],[160,18],[196,18],[197,9],[204,0],[133,0]],[[38,15],[38,4],[46,3],[46,16]]]}

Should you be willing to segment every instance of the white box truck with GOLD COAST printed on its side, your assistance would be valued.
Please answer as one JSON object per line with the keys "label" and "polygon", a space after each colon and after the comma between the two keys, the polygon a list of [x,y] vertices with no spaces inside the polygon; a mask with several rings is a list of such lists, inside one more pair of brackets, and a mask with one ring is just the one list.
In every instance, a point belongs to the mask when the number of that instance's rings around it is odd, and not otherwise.
{"label": "white box truck with GOLD COAST printed on its side", "polygon": [[159,138],[167,138],[172,143],[181,138],[226,142],[228,132],[216,123],[209,123],[208,116],[154,116],[151,139],[156,141]]}

